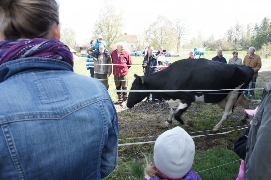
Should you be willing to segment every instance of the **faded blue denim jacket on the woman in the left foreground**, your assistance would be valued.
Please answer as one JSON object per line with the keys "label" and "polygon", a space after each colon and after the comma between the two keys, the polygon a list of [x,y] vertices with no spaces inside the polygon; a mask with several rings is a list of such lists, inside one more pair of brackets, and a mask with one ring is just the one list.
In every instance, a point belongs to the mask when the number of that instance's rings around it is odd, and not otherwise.
{"label": "faded blue denim jacket on the woman in the left foreground", "polygon": [[116,167],[118,132],[99,80],[48,58],[0,66],[0,180],[101,180]]}

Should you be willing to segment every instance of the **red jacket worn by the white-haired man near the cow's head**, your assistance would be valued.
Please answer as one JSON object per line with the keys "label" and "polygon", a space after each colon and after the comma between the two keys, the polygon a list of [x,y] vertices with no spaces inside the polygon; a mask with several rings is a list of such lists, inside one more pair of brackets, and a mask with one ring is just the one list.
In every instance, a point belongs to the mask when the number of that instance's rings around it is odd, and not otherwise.
{"label": "red jacket worn by the white-haired man near the cow's head", "polygon": [[127,51],[123,51],[118,59],[118,49],[111,53],[113,74],[114,76],[125,76],[129,72],[131,66],[117,66],[117,65],[132,65],[132,58]]}

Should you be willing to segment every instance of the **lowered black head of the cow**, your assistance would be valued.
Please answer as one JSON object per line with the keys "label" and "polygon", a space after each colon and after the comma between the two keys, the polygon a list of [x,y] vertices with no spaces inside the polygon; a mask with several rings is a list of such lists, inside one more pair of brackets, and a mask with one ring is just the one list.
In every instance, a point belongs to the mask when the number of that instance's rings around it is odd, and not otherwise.
{"label": "lowered black head of the cow", "polygon": [[[148,90],[148,85],[144,82],[144,76],[134,75],[131,90]],[[132,108],[135,104],[141,102],[149,92],[130,92],[127,101],[127,107]]]}

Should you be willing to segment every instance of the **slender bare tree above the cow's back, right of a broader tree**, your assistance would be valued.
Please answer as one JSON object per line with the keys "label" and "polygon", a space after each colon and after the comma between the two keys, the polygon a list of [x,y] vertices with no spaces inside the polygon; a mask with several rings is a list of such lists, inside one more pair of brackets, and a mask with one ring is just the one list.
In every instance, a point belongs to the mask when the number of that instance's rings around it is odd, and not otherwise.
{"label": "slender bare tree above the cow's back, right of a broader tree", "polygon": [[177,36],[177,52],[179,51],[180,45],[185,41],[184,36],[187,35],[188,27],[184,19],[177,18],[173,21],[174,32]]}

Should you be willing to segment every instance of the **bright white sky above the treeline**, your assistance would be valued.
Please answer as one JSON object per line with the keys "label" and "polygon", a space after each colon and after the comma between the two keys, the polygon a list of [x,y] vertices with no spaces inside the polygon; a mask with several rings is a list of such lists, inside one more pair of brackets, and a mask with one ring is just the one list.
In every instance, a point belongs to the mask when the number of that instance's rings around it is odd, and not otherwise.
{"label": "bright white sky above the treeline", "polygon": [[[57,0],[61,28],[73,28],[76,43],[92,37],[94,23],[106,0]],[[236,20],[245,27],[263,18],[271,18],[269,0],[111,0],[123,13],[123,34],[137,34],[156,21],[158,15],[169,20],[184,18],[188,25],[188,41],[201,34],[221,39]],[[166,23],[166,22],[165,22]]]}

